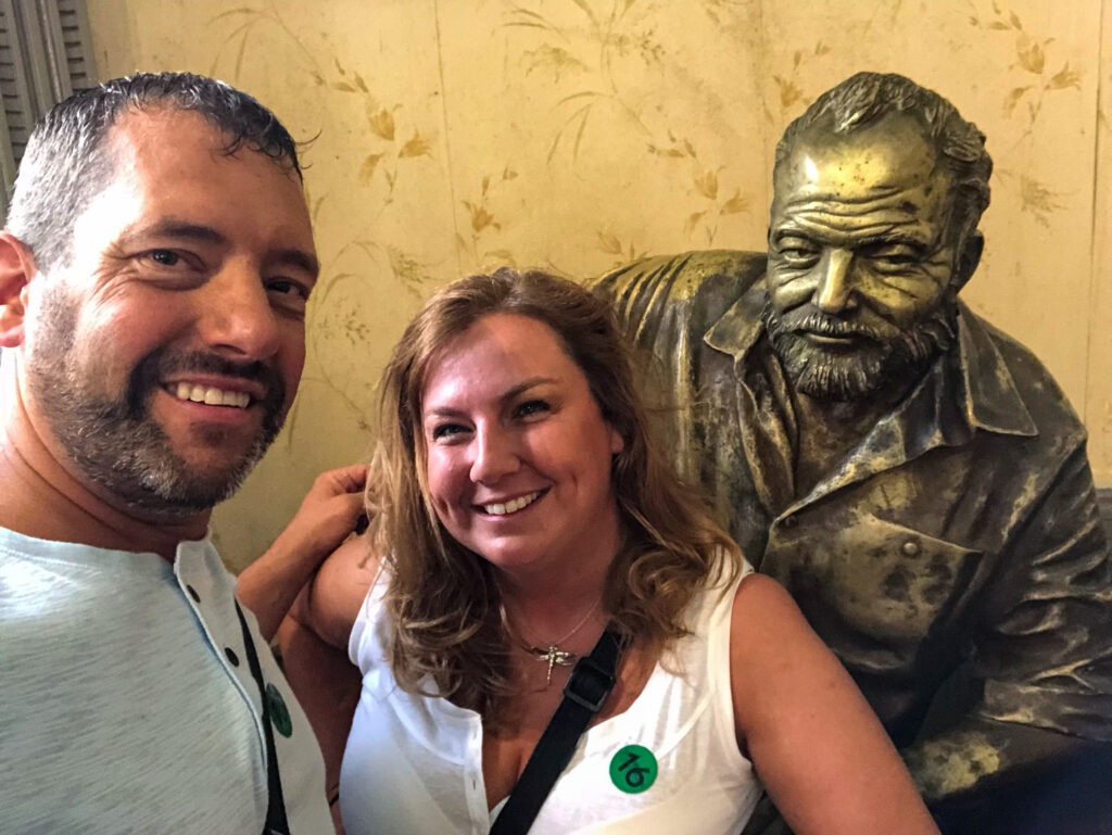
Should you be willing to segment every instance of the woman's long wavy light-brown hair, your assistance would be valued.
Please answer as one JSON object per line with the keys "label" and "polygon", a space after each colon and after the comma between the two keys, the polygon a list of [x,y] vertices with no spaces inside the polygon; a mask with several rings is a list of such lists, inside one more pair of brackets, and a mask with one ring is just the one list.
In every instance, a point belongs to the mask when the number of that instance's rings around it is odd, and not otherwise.
{"label": "woman's long wavy light-brown hair", "polygon": [[684,636],[684,609],[696,590],[732,579],[739,566],[737,546],[652,438],[629,349],[607,301],[536,270],[504,268],[443,288],[406,328],[383,374],[367,506],[376,550],[388,560],[395,677],[410,692],[477,710],[489,727],[513,696],[498,585],[493,566],[456,541],[433,508],[421,394],[446,347],[492,314],[552,328],[625,441],[612,470],[623,545],[603,594],[623,643],[666,646]]}

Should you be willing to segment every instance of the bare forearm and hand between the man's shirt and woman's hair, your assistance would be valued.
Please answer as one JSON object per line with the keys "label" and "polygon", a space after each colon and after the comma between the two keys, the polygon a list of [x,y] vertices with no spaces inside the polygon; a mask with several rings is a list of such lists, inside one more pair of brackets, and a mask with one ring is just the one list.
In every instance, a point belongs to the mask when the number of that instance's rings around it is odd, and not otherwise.
{"label": "bare forearm and hand between the man's shirt and woman's hair", "polygon": [[321,473],[274,545],[239,575],[236,595],[267,640],[321,560],[355,529],[366,481],[365,464]]}

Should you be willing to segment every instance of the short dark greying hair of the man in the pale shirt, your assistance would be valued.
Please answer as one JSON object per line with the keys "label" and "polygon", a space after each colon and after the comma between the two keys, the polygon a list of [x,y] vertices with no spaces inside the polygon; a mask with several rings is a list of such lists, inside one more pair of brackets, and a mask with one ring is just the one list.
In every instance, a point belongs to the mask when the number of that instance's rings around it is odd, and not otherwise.
{"label": "short dark greying hair of the man in the pale shirt", "polygon": [[36,125],[20,162],[8,229],[34,254],[39,269],[70,258],[73,223],[113,172],[103,140],[121,115],[192,111],[240,148],[270,157],[301,176],[297,143],[255,98],[224,81],[189,72],[139,73],[106,81],[60,101]]}

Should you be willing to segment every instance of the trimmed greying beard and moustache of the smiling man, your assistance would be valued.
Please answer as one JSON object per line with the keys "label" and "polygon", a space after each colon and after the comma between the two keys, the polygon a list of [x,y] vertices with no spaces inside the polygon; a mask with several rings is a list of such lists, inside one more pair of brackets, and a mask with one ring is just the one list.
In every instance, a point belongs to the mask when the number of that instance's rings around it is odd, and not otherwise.
{"label": "trimmed greying beard and moustache of the smiling man", "polygon": [[[36,351],[27,358],[28,385],[54,437],[78,470],[125,506],[167,518],[190,516],[229,498],[258,463],[285,418],[285,385],[259,362],[232,364],[209,354],[168,355],[156,350],[132,369],[119,397],[91,390],[73,356],[77,322],[63,291],[48,294]],[[178,370],[230,374],[261,380],[264,418],[254,443],[237,460],[199,470],[179,456],[149,414],[160,381]],[[219,445],[221,427],[200,427],[203,441]]]}

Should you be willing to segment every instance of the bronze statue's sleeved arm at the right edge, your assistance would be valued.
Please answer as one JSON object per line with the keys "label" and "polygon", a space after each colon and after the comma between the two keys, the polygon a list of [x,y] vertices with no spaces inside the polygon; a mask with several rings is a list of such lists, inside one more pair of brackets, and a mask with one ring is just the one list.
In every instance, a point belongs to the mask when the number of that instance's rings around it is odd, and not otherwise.
{"label": "bronze statue's sleeved arm at the right edge", "polygon": [[976,697],[903,752],[943,812],[1003,808],[989,801],[1039,793],[1112,740],[1112,566],[1082,441],[1030,507],[986,606]]}

